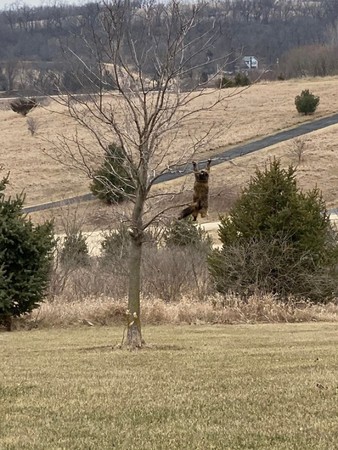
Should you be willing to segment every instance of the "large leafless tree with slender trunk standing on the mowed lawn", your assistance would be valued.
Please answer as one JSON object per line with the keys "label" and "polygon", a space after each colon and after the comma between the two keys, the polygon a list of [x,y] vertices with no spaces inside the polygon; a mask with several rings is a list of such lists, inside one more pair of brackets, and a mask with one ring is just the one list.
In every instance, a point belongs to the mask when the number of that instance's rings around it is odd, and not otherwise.
{"label": "large leafless tree with slender trunk standing on the mowed lawn", "polygon": [[[98,149],[106,154],[109,145],[116,143],[123,152],[127,176],[119,186],[108,179],[105,182],[108,189],[127,196],[132,205],[130,215],[126,213],[130,259],[125,344],[139,348],[143,345],[140,268],[145,230],[173,208],[172,198],[166,201],[169,193],[159,194],[152,187],[169,166],[187,164],[206,142],[225,132],[221,118],[215,120],[215,115],[208,114],[216,107],[223,109],[225,99],[234,92],[211,90],[205,79],[202,82],[200,76],[194,76],[210,64],[207,57],[201,63],[200,56],[207,55],[220,31],[216,22],[210,27],[199,20],[202,3],[149,1],[140,6],[112,0],[97,7],[98,13],[83,28],[78,48],[63,47],[76,62],[73,76],[86,95],[67,92],[65,96],[58,86],[58,101],[66,104],[70,116],[85,129],[86,138],[79,133],[59,136],[54,157],[93,176]],[[198,37],[196,27],[200,27]],[[224,55],[213,62],[222,70],[228,59]],[[211,78],[219,76],[215,73]],[[200,130],[189,135],[189,123],[196,115],[201,117]],[[175,152],[182,133],[186,147]],[[113,162],[111,171],[114,173]],[[126,184],[132,185],[131,193],[126,194]]]}

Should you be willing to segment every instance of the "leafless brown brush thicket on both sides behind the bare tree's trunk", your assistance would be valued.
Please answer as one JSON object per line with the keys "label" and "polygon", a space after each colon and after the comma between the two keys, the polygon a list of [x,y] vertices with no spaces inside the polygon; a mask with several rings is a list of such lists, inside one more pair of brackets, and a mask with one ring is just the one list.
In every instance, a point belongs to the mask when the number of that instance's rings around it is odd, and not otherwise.
{"label": "leafless brown brush thicket on both sides behind the bare tree's trunk", "polygon": [[[117,249],[118,250],[118,249]],[[56,257],[51,274],[49,299],[67,301],[127,294],[128,257],[117,251],[90,258],[85,266],[59,264]],[[184,296],[204,300],[210,294],[206,254],[194,248],[160,248],[147,245],[142,263],[142,296],[178,302]]]}

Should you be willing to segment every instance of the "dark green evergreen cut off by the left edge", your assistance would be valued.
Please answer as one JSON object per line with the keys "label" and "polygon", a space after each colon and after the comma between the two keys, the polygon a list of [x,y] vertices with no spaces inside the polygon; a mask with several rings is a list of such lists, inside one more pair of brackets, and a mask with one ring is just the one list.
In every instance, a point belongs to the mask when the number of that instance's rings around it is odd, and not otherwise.
{"label": "dark green evergreen cut off by the left edge", "polygon": [[6,198],[0,181],[0,324],[31,312],[43,300],[54,248],[51,222],[34,226],[22,212],[24,197]]}

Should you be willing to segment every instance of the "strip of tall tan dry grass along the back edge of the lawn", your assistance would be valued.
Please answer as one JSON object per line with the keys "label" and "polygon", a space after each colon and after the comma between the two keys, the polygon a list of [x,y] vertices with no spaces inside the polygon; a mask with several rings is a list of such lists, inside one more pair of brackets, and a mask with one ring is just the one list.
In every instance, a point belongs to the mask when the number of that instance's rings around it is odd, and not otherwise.
{"label": "strip of tall tan dry grass along the back edge of the lawn", "polygon": [[[126,323],[126,299],[105,295],[81,300],[60,296],[43,303],[14,324],[17,328],[100,326]],[[142,299],[142,322],[147,324],[247,324],[271,322],[338,321],[338,306],[308,302],[276,301],[273,295],[254,295],[247,301],[236,296],[212,295],[205,301],[182,297],[175,303],[158,298]]]}

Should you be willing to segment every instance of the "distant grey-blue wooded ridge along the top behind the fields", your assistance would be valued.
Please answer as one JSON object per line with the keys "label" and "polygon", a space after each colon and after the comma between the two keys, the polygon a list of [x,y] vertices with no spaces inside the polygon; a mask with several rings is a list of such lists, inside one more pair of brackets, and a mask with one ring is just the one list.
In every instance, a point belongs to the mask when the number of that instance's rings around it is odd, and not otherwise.
{"label": "distant grey-blue wooded ridge along the top behind the fields", "polygon": [[[133,8],[142,10],[142,2],[131,3]],[[187,3],[185,7],[188,12],[194,6]],[[101,12],[102,5],[95,2],[85,5],[55,2],[39,7],[13,3],[5,7],[0,11],[0,90],[35,93],[32,89],[35,86],[52,92],[60,82],[73,92],[83,90],[84,80],[78,80],[77,74],[65,66],[63,53],[68,46],[81,53],[83,44],[79,36],[84,30],[97,28]],[[156,5],[156,14],[156,25],[152,26],[160,37],[163,4]],[[338,73],[336,0],[215,0],[205,5],[203,14],[204,23],[194,33],[201,35],[214,24],[223,38],[205,55],[199,55],[204,61],[192,59],[190,77],[205,78],[214,73],[217,57],[225,49],[232,55],[229,71],[235,71],[238,58],[246,54],[255,55],[260,66],[272,70],[276,77]],[[130,26],[137,30],[139,25],[134,21]],[[198,73],[198,64],[209,60],[210,64]],[[95,63],[88,60],[90,67]],[[156,80],[153,67],[149,67],[149,77]],[[109,71],[105,88],[114,88]]]}

